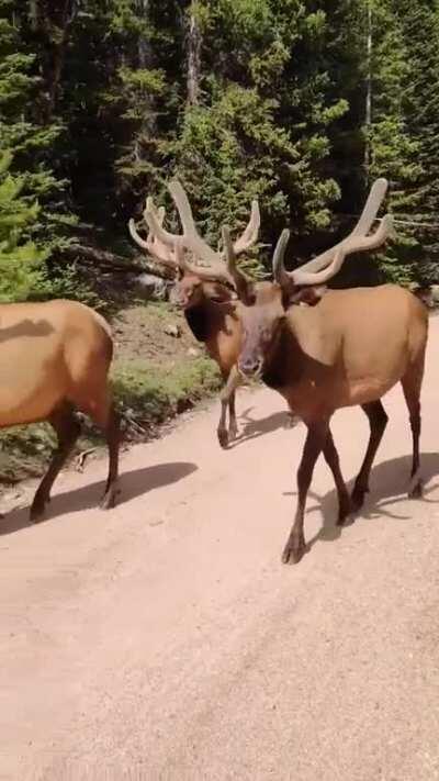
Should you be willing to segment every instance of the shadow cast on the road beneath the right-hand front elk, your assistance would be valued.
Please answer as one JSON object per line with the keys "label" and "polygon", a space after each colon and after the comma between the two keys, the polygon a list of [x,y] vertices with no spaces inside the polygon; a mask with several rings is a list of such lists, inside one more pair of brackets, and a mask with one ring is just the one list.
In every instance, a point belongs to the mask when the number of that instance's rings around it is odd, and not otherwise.
{"label": "shadow cast on the road beneath the right-hand front elk", "polygon": [[[396,521],[409,521],[409,514],[398,514],[393,511],[393,506],[399,502],[423,502],[425,504],[438,504],[439,499],[429,499],[428,497],[439,488],[439,482],[429,484],[434,477],[439,478],[439,454],[424,453],[421,454],[421,476],[424,480],[424,497],[423,499],[407,499],[407,487],[409,482],[409,473],[412,468],[412,456],[399,456],[398,458],[390,459],[376,464],[372,469],[370,480],[370,493],[367,494],[364,506],[352,516],[352,522],[357,518],[373,520],[379,517],[390,517]],[[348,483],[348,489],[352,488],[353,480]],[[285,495],[296,497],[296,492],[288,492]],[[333,489],[323,497],[308,491],[308,498],[315,499],[318,504],[309,506],[306,514],[320,512],[323,525],[319,532],[307,542],[307,547],[311,549],[318,540],[333,542],[338,539],[342,534],[342,526],[337,526],[338,501],[337,491]],[[392,511],[389,509],[392,506]],[[349,521],[347,522],[347,525]]]}

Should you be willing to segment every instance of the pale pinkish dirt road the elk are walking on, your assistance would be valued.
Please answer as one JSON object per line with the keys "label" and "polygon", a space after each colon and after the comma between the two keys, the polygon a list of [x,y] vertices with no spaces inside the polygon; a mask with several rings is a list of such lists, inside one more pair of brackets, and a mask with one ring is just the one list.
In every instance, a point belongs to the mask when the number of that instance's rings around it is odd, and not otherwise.
{"label": "pale pinkish dirt road the elk are walking on", "polygon": [[[0,779],[431,781],[439,778],[439,320],[424,392],[424,501],[405,489],[399,389],[362,515],[341,534],[318,462],[311,553],[280,564],[304,438],[282,400],[240,393],[123,460],[56,484],[50,517],[0,522]],[[346,479],[368,427],[334,420]]]}

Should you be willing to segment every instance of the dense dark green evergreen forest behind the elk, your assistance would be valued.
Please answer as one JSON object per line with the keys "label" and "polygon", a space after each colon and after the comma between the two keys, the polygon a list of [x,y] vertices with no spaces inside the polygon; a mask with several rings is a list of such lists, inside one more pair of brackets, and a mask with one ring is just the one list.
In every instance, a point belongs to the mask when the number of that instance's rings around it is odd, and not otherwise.
{"label": "dense dark green evergreen forest behind the elk", "polygon": [[146,194],[178,230],[173,176],[213,246],[259,199],[255,274],[385,176],[397,241],[341,283],[439,281],[436,0],[0,0],[0,301],[92,300],[82,264],[135,260]]}

